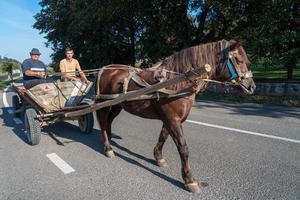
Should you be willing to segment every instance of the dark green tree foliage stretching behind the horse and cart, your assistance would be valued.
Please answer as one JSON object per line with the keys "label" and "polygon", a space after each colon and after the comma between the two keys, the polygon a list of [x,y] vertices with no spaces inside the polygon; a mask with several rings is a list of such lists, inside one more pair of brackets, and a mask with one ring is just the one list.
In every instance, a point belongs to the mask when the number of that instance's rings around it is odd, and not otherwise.
{"label": "dark green tree foliage stretching behind the horse and cart", "polygon": [[34,27],[59,61],[72,47],[84,68],[151,64],[219,39],[246,40],[252,59],[289,67],[299,57],[299,2],[293,0],[42,0]]}

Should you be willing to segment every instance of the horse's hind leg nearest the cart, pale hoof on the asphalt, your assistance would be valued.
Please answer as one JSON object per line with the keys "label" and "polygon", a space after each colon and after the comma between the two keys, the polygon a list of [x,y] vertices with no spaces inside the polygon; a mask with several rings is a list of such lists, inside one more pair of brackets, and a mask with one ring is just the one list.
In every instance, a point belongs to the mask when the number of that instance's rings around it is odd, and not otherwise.
{"label": "horse's hind leg nearest the cart, pale hoof on the asphalt", "polygon": [[96,111],[97,119],[100,124],[101,132],[102,132],[102,144],[104,148],[104,153],[107,157],[114,157],[114,151],[109,143],[108,132],[109,132],[109,124],[108,117],[110,113],[110,108],[103,108]]}

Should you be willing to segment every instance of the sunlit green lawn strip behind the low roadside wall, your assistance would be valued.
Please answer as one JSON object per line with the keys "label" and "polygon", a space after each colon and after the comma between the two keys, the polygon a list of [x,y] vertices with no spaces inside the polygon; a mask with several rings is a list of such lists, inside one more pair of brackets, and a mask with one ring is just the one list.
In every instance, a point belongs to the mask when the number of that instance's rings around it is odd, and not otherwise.
{"label": "sunlit green lawn strip behind the low roadside wall", "polygon": [[[273,71],[253,71],[254,79],[286,79],[286,70],[273,70]],[[294,79],[300,79],[300,69],[294,69]]]}

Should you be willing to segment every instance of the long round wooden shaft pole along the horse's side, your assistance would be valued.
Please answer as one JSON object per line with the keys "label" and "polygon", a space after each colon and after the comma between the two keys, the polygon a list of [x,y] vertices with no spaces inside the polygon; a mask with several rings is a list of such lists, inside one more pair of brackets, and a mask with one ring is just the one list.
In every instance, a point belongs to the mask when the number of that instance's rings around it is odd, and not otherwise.
{"label": "long round wooden shaft pole along the horse's side", "polygon": [[129,99],[133,99],[133,98],[139,97],[139,96],[144,95],[144,94],[149,94],[149,93],[155,92],[159,89],[166,88],[166,87],[169,87],[171,85],[174,85],[174,84],[177,84],[177,83],[180,83],[180,82],[184,82],[184,81],[187,81],[187,80],[194,80],[194,79],[197,79],[197,78],[206,78],[207,73],[210,72],[210,71],[211,71],[210,65],[206,64],[204,66],[195,68],[192,71],[189,71],[185,74],[178,75],[177,77],[169,79],[169,80],[164,81],[162,83],[157,83],[157,84],[154,84],[154,85],[152,85],[150,87],[147,87],[147,88],[143,88],[143,89],[139,89],[139,90],[135,90],[135,91],[130,91],[130,92],[128,92],[128,93],[124,94],[123,96],[120,96],[116,99],[109,100],[109,101],[104,101],[104,102],[101,102],[101,103],[92,104],[92,105],[90,105],[90,107],[84,108],[84,109],[81,109],[81,110],[66,112],[65,117],[77,117],[77,116],[85,115],[87,113],[94,112],[95,110],[99,110],[101,108],[108,107],[108,106],[113,106],[113,105],[122,103],[123,101],[127,101]]}

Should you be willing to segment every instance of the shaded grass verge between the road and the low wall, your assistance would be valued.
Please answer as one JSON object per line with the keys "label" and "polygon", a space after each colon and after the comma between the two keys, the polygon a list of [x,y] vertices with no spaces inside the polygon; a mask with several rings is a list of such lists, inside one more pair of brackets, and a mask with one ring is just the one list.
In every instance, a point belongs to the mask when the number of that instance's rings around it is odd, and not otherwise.
{"label": "shaded grass verge between the road and the low wall", "polygon": [[262,96],[262,95],[244,95],[244,94],[210,94],[201,93],[197,95],[197,100],[211,100],[211,101],[225,101],[234,103],[257,103],[257,104],[271,104],[287,107],[300,107],[300,96]]}

